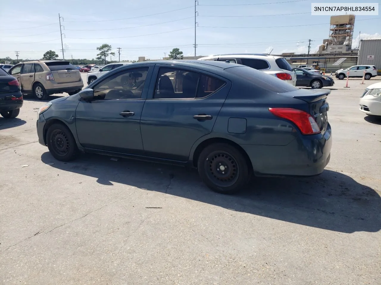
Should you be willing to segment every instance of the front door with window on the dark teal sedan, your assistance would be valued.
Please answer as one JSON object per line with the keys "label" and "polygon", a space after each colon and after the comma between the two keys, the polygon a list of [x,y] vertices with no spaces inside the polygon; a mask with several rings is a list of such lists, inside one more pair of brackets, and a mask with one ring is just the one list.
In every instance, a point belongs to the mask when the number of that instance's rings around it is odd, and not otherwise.
{"label": "front door with window on the dark teal sedan", "polygon": [[94,86],[94,100],[80,101],[75,125],[83,147],[142,154],[139,122],[152,71],[153,65],[106,75]]}

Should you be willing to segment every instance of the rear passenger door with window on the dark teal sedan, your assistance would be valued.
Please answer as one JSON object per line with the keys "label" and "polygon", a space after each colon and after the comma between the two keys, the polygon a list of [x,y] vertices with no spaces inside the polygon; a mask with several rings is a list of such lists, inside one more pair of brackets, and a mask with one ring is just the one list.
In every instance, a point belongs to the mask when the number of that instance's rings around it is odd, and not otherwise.
{"label": "rear passenger door with window on the dark teal sedan", "polygon": [[140,120],[144,152],[187,161],[193,144],[213,129],[231,82],[194,68],[156,65]]}

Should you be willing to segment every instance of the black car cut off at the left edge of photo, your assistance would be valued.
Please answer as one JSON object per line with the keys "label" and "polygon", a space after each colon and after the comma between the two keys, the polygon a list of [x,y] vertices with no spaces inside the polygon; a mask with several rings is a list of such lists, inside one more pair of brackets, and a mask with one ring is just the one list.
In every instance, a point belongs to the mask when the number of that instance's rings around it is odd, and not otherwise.
{"label": "black car cut off at the left edge of photo", "polygon": [[0,115],[16,118],[23,103],[19,82],[0,68]]}

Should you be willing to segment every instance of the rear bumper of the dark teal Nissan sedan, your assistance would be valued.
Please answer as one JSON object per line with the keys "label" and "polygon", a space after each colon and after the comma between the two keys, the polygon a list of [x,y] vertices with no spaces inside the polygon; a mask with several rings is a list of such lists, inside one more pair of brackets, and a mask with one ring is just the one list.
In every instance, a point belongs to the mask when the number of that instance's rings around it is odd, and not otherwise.
{"label": "rear bumper of the dark teal Nissan sedan", "polygon": [[330,160],[331,126],[324,134],[300,135],[286,146],[241,145],[257,176],[313,176]]}

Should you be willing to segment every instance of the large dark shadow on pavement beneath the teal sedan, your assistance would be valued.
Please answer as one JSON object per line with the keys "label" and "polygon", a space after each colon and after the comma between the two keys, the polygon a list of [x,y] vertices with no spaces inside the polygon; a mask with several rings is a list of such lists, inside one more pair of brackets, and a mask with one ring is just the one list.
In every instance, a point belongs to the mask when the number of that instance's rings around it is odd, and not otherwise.
{"label": "large dark shadow on pavement beneath the teal sedan", "polygon": [[335,171],[302,178],[256,177],[247,190],[227,196],[205,187],[197,171],[176,166],[122,158],[114,161],[93,154],[64,163],[49,152],[41,160],[63,171],[94,177],[102,185],[131,185],[299,225],[343,233],[381,229],[378,193]]}

